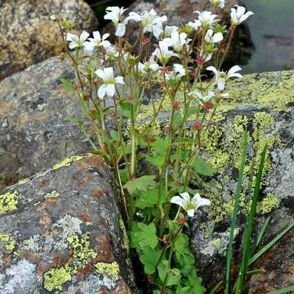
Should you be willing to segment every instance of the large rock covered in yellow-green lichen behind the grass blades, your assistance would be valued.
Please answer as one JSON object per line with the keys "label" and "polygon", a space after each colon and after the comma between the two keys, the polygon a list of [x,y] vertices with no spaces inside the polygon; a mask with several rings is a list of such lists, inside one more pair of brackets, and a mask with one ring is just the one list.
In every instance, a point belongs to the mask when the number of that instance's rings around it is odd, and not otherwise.
{"label": "large rock covered in yellow-green lichen behind the grass blades", "polygon": [[[265,244],[294,221],[294,191],[291,185],[294,183],[294,71],[244,75],[243,79],[229,82],[226,90],[230,93],[230,98],[219,105],[214,123],[203,140],[205,147],[202,156],[216,168],[217,174],[213,177],[206,176],[202,184],[199,181],[193,183],[194,189],[199,190],[201,195],[212,202],[209,208],[201,210],[202,213],[199,212],[190,223],[192,249],[200,269],[199,274],[208,288],[223,279],[230,216],[245,129],[250,132],[250,143],[236,230],[235,257],[238,257],[246,221],[250,168],[253,166],[257,171],[260,154],[266,144],[268,155],[255,228],[259,228],[265,216],[271,215],[278,208],[273,214],[268,234],[264,237]],[[181,100],[179,102],[181,103]],[[161,120],[169,116],[169,109],[167,103],[166,114],[160,116]],[[147,105],[141,111],[140,118],[147,120],[150,113],[151,106]],[[193,122],[195,118],[191,119]],[[155,129],[154,133],[157,131]],[[285,247],[281,244],[277,245],[277,258],[274,259],[278,259],[279,263],[272,262],[270,257],[275,251],[271,251],[272,253],[262,259],[264,268],[270,268],[270,273],[279,273],[281,268],[285,270],[283,279],[276,277],[269,282],[268,285],[276,288],[291,284],[289,281],[293,273],[290,268],[294,268],[293,259],[288,258],[288,249],[283,250]],[[238,263],[239,259],[236,260]],[[254,278],[250,282],[252,293],[255,293]],[[264,276],[262,278],[264,279]]]}

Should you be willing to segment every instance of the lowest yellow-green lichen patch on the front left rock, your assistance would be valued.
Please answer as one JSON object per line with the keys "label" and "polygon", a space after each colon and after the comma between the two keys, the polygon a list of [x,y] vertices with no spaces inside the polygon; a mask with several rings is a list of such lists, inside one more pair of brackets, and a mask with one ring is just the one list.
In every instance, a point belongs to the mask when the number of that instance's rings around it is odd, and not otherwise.
{"label": "lowest yellow-green lichen patch on the front left rock", "polygon": [[48,291],[62,290],[62,286],[69,281],[71,281],[71,268],[68,265],[50,268],[44,274],[44,288]]}

